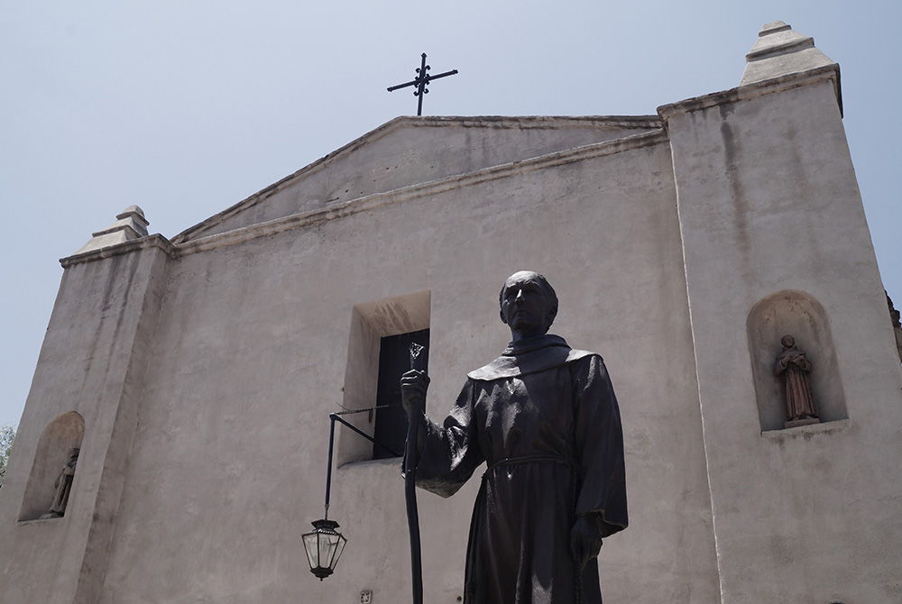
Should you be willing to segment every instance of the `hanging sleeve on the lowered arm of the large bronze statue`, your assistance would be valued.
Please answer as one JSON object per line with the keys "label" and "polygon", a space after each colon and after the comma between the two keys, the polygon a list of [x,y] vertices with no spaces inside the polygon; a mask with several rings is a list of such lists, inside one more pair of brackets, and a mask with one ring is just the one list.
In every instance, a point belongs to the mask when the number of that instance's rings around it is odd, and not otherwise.
{"label": "hanging sleeve on the lowered arm of the large bronze statue", "polygon": [[600,356],[584,357],[574,365],[575,454],[580,475],[576,514],[594,515],[606,537],[628,524],[620,409]]}

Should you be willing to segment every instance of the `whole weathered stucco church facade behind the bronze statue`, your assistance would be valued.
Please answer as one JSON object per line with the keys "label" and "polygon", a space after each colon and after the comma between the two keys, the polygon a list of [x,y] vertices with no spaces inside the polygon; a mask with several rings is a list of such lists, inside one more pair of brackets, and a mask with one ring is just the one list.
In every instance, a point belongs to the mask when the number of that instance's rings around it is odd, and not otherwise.
{"label": "whole weathered stucco church facade behind the bronze statue", "polygon": [[[176,237],[147,224],[62,261],[0,490],[6,604],[409,599],[400,459],[345,426],[348,544],[308,571],[329,414],[386,425],[380,350],[417,333],[440,421],[507,344],[517,270],[620,401],[605,601],[902,601],[902,369],[839,66],[784,23],[738,87],[657,115],[400,117]],[[787,334],[816,421],[787,416]],[[477,488],[419,493],[428,602],[463,597]]]}

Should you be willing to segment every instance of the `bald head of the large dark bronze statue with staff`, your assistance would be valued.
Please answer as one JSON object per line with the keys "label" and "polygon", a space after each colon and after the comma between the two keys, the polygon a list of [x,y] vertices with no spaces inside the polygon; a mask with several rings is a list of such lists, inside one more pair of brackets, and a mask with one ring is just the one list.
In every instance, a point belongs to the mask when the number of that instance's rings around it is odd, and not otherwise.
{"label": "bald head of the large dark bronze statue with staff", "polygon": [[557,307],[536,273],[521,271],[504,282],[502,321],[511,327],[515,338],[545,334],[556,314]]}

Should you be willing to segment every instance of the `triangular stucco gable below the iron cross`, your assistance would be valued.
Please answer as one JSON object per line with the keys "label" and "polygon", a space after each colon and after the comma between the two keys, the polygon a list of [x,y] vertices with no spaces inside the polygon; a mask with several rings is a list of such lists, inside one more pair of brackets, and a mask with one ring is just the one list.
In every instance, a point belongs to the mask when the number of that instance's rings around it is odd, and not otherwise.
{"label": "triangular stucco gable below the iron cross", "polygon": [[173,242],[659,128],[657,116],[397,117]]}

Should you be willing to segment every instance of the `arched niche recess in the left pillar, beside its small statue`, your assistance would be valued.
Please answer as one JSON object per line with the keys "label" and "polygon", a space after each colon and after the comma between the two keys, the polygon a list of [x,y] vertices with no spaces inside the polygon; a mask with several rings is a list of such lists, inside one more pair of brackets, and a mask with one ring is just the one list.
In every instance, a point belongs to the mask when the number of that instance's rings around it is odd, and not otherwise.
{"label": "arched niche recess in the left pillar, beside its small statue", "polygon": [[[69,461],[69,451],[80,449],[84,437],[85,419],[75,411],[57,416],[44,428],[34,453],[32,472],[25,484],[25,496],[19,510],[20,522],[35,520],[50,510],[56,494],[53,482]],[[71,503],[71,499],[69,501]]]}

